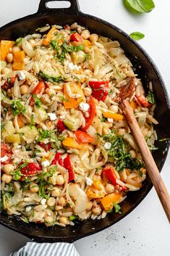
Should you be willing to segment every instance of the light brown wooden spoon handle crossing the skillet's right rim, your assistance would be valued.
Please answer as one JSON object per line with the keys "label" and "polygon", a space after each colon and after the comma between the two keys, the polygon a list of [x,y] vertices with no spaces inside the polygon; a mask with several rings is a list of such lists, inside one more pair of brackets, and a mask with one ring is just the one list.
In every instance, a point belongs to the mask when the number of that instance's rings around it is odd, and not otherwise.
{"label": "light brown wooden spoon handle crossing the skillet's right rim", "polygon": [[133,113],[132,108],[129,106],[129,102],[125,99],[122,101],[122,105],[124,107],[124,114],[127,117],[127,123],[129,124],[129,128],[132,132],[132,135],[135,139],[135,142],[140,150],[140,154],[143,157],[143,161],[145,162],[146,169],[150,176],[150,180],[153,183],[153,186],[156,189],[158,197],[163,206],[163,210],[166,213],[167,218],[170,223],[170,197],[169,193],[166,189],[165,184],[161,178],[161,174],[158,171],[156,166],[156,162],[153,160],[153,156],[150,153],[150,149],[148,149],[148,145],[146,144],[143,133],[140,131],[140,127],[137,123],[135,115]]}

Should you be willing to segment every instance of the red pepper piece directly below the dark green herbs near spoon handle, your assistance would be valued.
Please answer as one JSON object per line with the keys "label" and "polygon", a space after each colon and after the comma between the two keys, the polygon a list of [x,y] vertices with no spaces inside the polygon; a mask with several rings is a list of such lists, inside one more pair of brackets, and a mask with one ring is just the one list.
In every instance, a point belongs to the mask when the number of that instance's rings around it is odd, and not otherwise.
{"label": "red pepper piece directly below the dark green herbs near spoon handle", "polygon": [[[116,181],[116,176],[115,176],[113,167],[109,166],[104,168],[102,171],[102,176],[103,176],[103,179],[111,181],[112,185],[114,186],[119,185],[119,183],[117,183]],[[119,186],[122,188],[122,191],[127,190],[126,186],[121,186],[121,185]]]}

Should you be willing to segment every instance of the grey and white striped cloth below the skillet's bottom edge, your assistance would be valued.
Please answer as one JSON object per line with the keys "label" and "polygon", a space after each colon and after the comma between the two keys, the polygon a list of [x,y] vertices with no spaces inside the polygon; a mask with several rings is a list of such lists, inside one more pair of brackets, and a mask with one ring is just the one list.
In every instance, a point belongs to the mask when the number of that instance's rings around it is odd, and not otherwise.
{"label": "grey and white striped cloth below the skillet's bottom edge", "polygon": [[80,256],[74,244],[27,242],[18,252],[9,256]]}

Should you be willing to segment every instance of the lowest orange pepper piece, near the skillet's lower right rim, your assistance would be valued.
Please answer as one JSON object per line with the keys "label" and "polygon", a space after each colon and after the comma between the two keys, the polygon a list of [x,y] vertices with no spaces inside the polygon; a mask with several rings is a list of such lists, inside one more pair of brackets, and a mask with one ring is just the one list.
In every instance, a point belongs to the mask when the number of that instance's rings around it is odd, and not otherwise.
{"label": "lowest orange pepper piece, near the skillet's lower right rim", "polygon": [[101,204],[103,205],[104,210],[111,210],[114,206],[113,203],[119,203],[121,197],[121,194],[118,194],[116,192],[108,194],[106,197],[103,197],[101,199]]}

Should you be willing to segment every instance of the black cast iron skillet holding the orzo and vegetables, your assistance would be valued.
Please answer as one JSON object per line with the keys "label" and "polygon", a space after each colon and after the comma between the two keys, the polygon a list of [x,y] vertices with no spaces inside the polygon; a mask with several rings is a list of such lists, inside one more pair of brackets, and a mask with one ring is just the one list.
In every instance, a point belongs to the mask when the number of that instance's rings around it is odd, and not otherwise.
{"label": "black cast iron skillet holding the orzo and vegetables", "polygon": [[[138,73],[139,77],[143,80],[143,85],[148,86],[149,81],[152,81],[153,88],[156,93],[156,102],[158,104],[155,114],[156,119],[159,121],[159,125],[156,126],[158,138],[169,138],[169,97],[156,65],[150,59],[148,54],[142,49],[142,47],[129,38],[126,33],[119,28],[116,28],[114,25],[111,25],[109,22],[80,12],[77,0],[69,0],[71,6],[68,9],[48,9],[46,6],[48,1],[50,0],[41,0],[38,12],[34,15],[23,17],[2,27],[0,29],[0,38],[15,40],[21,35],[24,36],[29,33],[34,33],[36,28],[43,27],[43,25],[46,25],[46,23],[51,25],[64,25],[77,22],[80,25],[88,27],[90,31],[118,40],[122,48],[125,50],[127,57],[129,57],[136,68],[136,73]],[[154,152],[153,156],[156,160],[158,169],[161,171],[161,168],[166,160],[169,144],[167,141],[163,141],[158,142],[156,146],[158,146],[159,149],[158,151]],[[1,212],[0,223],[7,228],[11,228],[14,231],[24,234],[30,239],[34,239],[35,241],[72,242],[84,236],[101,231],[104,228],[108,228],[124,218],[127,214],[129,214],[129,212],[135,209],[137,205],[139,205],[151,188],[152,184],[150,182],[150,178],[147,177],[143,183],[143,187],[139,191],[129,193],[127,199],[122,202],[122,212],[124,212],[123,215],[109,214],[103,220],[89,219],[85,221],[77,221],[75,226],[67,226],[66,228],[61,228],[58,226],[47,228],[43,225],[37,225],[35,223],[26,224],[14,216],[9,217],[5,212]]]}

